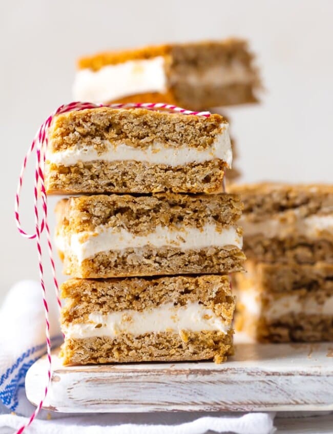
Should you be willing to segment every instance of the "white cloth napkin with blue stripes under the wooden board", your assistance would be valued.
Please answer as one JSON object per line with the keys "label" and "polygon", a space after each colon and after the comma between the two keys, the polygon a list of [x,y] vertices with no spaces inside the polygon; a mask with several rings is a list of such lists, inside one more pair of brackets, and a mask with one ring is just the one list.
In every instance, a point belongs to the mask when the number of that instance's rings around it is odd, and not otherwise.
{"label": "white cloth napkin with blue stripes under the wooden board", "polygon": [[[50,334],[52,344],[59,345],[62,337],[52,295],[48,300]],[[0,434],[12,433],[28,421],[33,406],[25,396],[25,374],[45,352],[41,289],[37,282],[25,280],[9,291],[0,309],[0,403],[7,409],[7,413],[0,414]],[[8,414],[9,411],[15,414]],[[26,432],[72,434],[78,429],[80,434],[204,434],[207,431],[270,434],[275,431],[273,421],[273,413],[92,413],[69,416],[41,411]]]}

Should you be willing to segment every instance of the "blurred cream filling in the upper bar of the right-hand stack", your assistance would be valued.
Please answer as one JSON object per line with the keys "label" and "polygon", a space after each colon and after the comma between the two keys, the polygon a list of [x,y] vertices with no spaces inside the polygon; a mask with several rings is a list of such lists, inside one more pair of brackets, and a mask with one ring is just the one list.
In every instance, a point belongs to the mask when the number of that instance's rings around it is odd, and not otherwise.
{"label": "blurred cream filling in the upper bar of the right-hand stack", "polygon": [[239,224],[245,236],[263,235],[266,238],[284,239],[291,235],[300,235],[307,238],[318,238],[322,233],[333,235],[333,215],[313,215],[305,218],[296,213],[286,213],[275,219],[259,222],[249,221],[242,216]]}

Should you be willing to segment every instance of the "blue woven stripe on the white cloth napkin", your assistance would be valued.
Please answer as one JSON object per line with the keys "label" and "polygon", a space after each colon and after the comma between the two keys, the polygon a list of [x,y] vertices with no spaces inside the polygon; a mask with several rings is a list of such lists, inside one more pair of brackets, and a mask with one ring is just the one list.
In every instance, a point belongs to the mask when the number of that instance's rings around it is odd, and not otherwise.
{"label": "blue woven stripe on the white cloth napkin", "polygon": [[[55,336],[51,338],[52,346],[59,344],[63,338]],[[29,348],[27,351],[17,357],[15,363],[10,366],[4,374],[0,377],[0,401],[11,411],[14,411],[18,405],[17,392],[18,388],[24,386],[24,379],[30,366],[38,360],[38,358],[46,352],[46,344],[37,345]],[[35,357],[33,354],[38,353]],[[5,381],[18,369],[15,376],[10,379],[10,382],[4,385]]]}

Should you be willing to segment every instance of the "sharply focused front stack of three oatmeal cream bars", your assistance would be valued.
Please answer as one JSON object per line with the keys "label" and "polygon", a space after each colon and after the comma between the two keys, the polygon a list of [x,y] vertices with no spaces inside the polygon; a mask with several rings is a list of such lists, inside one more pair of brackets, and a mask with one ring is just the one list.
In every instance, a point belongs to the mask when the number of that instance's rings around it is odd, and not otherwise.
{"label": "sharply focused front stack of three oatmeal cream bars", "polygon": [[47,193],[56,206],[64,364],[214,359],[233,352],[239,197],[222,192],[228,124],[143,108],[56,116]]}

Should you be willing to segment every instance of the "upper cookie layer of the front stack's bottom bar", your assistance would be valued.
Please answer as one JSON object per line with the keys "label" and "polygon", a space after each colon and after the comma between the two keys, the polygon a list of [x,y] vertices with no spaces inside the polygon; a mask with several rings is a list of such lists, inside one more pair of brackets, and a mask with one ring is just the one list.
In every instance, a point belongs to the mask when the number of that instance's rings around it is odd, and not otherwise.
{"label": "upper cookie layer of the front stack's bottom bar", "polygon": [[61,296],[68,299],[61,312],[63,324],[81,322],[92,312],[142,311],[166,303],[185,306],[198,300],[230,323],[234,311],[230,280],[220,275],[70,279],[61,285]]}

